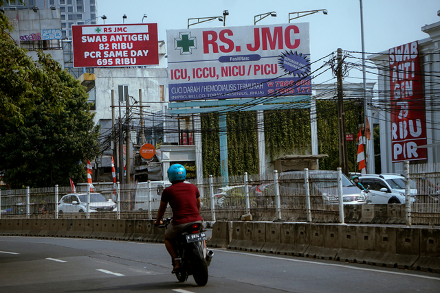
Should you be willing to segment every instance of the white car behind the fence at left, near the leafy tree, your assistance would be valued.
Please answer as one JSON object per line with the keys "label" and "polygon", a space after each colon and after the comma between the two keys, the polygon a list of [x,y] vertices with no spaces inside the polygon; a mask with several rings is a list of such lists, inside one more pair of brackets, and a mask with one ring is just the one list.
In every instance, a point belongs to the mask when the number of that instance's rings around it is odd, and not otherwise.
{"label": "white car behind the fence at left, near the leafy tree", "polygon": [[[67,194],[59,202],[59,213],[85,213],[86,211],[87,194]],[[89,213],[97,211],[116,211],[116,204],[102,194],[91,193]]]}

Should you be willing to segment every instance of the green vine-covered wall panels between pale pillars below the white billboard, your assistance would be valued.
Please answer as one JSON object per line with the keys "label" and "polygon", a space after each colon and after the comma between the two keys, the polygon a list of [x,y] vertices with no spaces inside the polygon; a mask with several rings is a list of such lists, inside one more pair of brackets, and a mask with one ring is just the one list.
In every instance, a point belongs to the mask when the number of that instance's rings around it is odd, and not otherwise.
{"label": "green vine-covered wall panels between pale pillars below the white billboard", "polygon": [[[329,157],[320,159],[320,169],[339,165],[338,108],[336,100],[318,100],[318,151]],[[358,134],[363,123],[362,102],[344,101],[347,133]],[[265,111],[265,144],[267,159],[274,161],[287,154],[310,154],[309,109]],[[227,114],[229,175],[258,174],[258,141],[256,112]],[[219,114],[201,117],[203,176],[220,176]],[[355,171],[357,145],[348,141],[349,170]]]}

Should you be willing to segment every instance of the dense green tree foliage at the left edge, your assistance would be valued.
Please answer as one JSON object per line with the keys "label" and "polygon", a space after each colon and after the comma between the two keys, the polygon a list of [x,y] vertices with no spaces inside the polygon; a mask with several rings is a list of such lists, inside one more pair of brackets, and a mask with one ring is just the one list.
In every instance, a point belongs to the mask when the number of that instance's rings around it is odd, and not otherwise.
{"label": "dense green tree foliage at the left edge", "polygon": [[99,128],[87,93],[58,62],[0,35],[0,170],[12,188],[68,185],[87,178]]}

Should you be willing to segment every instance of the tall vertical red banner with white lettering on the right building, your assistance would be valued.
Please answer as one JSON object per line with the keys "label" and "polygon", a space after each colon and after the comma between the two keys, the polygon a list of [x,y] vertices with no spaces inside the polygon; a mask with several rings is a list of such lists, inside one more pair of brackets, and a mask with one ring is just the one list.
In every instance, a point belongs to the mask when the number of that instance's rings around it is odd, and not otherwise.
{"label": "tall vertical red banner with white lettering on the right building", "polygon": [[389,49],[393,163],[426,159],[426,115],[419,45]]}

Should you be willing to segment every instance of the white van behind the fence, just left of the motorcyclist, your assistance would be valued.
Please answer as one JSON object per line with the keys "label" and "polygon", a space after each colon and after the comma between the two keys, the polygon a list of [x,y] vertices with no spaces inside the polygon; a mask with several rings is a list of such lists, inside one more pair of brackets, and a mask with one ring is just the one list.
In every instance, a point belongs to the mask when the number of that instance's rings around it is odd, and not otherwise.
{"label": "white van behind the fence, just left of the motorcyclist", "polygon": [[[171,183],[168,180],[150,181],[150,201],[151,209],[157,210],[160,205],[162,191]],[[148,182],[140,182],[136,185],[135,192],[135,211],[148,211]]]}

